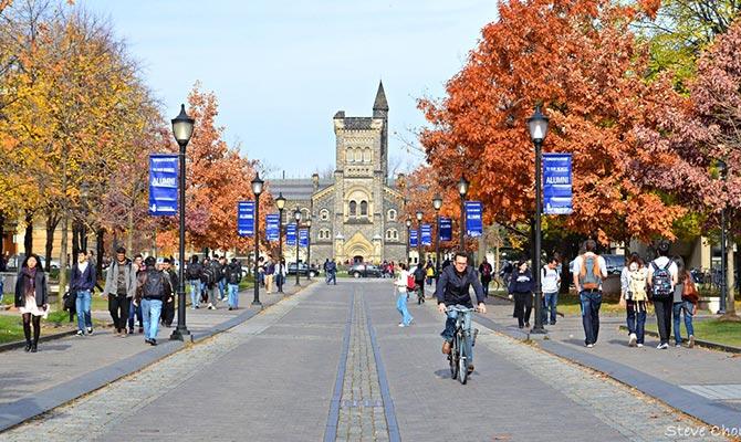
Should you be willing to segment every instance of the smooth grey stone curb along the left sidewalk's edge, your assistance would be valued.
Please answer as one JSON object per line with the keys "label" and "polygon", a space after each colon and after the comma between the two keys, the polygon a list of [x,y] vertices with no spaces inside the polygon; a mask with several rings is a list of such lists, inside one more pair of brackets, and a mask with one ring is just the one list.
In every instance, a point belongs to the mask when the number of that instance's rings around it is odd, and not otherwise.
{"label": "smooth grey stone curb along the left sidewalk's edge", "polygon": [[[304,288],[310,287],[312,283],[302,285],[301,288],[290,295],[284,295],[283,298],[291,297]],[[279,303],[281,299],[276,301]],[[226,332],[239,324],[250,319],[272,305],[263,306],[260,311],[246,311],[244,313],[234,316],[221,324],[211,327],[207,332],[196,333],[191,335],[194,343],[201,341],[212,337],[219,333]],[[62,335],[62,334],[59,334]],[[50,337],[52,335],[49,335]],[[67,335],[65,335],[67,336]],[[59,339],[63,336],[56,336]],[[18,401],[0,406],[0,434],[3,431],[17,427],[29,419],[35,418],[48,411],[51,411],[60,406],[63,406],[82,396],[90,394],[111,382],[121,378],[129,376],[134,372],[140,371],[146,367],[184,349],[187,347],[186,343],[177,340],[163,340],[156,347],[142,351],[117,362],[111,364],[106,367],[98,368],[92,372],[79,376],[63,385],[58,385],[46,390],[40,391],[32,397],[19,399]]]}

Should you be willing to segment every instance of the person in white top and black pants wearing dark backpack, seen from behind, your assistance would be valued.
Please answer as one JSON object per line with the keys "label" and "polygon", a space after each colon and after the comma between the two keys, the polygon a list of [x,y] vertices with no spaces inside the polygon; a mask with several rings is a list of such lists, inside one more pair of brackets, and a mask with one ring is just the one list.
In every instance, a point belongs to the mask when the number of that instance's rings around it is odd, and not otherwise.
{"label": "person in white top and black pants wearing dark backpack, seen from behind", "polygon": [[656,312],[656,323],[659,329],[659,350],[669,348],[669,336],[671,335],[671,309],[674,306],[675,286],[678,282],[677,264],[669,259],[669,243],[659,242],[657,248],[659,256],[651,261],[648,267],[648,286],[650,298]]}

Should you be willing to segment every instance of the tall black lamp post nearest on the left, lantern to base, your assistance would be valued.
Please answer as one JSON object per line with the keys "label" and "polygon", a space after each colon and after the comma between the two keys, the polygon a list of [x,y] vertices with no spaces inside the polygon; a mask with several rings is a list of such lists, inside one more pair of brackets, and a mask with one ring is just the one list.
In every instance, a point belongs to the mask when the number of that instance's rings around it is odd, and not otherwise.
{"label": "tall black lamp post nearest on the left, lantern to base", "polygon": [[178,146],[180,147],[180,151],[178,154],[178,160],[180,164],[180,170],[179,170],[179,204],[178,204],[178,210],[179,210],[179,221],[180,221],[180,238],[179,238],[179,245],[178,245],[178,260],[180,261],[180,265],[178,265],[178,324],[175,327],[175,330],[173,330],[173,334],[170,335],[170,339],[174,340],[186,340],[188,336],[190,336],[190,332],[186,327],[186,308],[185,308],[185,276],[184,276],[184,270],[185,270],[185,176],[186,176],[186,168],[185,168],[185,152],[186,152],[186,146],[188,146],[188,143],[190,141],[190,137],[192,136],[192,129],[196,124],[196,120],[190,118],[188,114],[185,112],[185,104],[180,105],[180,114],[178,114],[177,117],[173,118],[173,135],[175,136],[175,140],[178,143]]}

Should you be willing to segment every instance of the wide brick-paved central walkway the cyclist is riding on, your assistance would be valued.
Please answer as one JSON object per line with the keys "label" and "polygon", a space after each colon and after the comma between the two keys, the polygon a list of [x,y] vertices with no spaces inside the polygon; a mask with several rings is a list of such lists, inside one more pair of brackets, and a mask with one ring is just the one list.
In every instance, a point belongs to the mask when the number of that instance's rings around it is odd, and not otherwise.
{"label": "wide brick-paved central walkway the cyclist is riding on", "polygon": [[[8,441],[660,441],[698,422],[492,332],[450,379],[443,317],[388,281],[314,284],[262,314],[1,436]],[[503,308],[503,307],[502,307]],[[493,315],[494,317],[497,314]],[[712,435],[703,440],[718,440]]]}

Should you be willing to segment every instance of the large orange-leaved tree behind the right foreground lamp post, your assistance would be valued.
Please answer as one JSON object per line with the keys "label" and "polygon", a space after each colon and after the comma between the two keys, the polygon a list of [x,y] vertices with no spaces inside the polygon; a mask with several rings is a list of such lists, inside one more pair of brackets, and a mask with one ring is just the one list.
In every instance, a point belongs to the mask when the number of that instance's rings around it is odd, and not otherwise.
{"label": "large orange-leaved tree behind the right foreground lamp post", "polygon": [[[648,83],[647,51],[630,32],[646,13],[613,0],[509,0],[482,30],[440,101],[420,99],[431,127],[420,140],[441,186],[461,173],[493,221],[514,225],[534,211],[534,149],[525,118],[542,104],[551,118],[544,151],[572,152],[574,213],[549,219],[602,242],[674,238],[683,210],[646,175],[675,154],[646,149],[636,131],[655,126],[670,83]],[[643,2],[653,4],[653,2]],[[655,8],[656,4],[653,4]]]}

